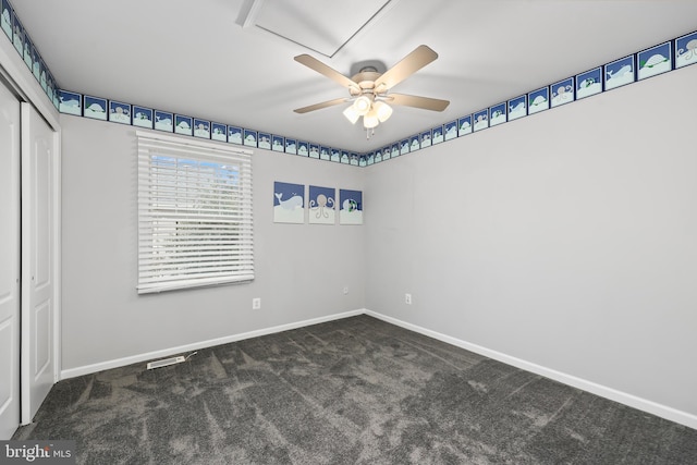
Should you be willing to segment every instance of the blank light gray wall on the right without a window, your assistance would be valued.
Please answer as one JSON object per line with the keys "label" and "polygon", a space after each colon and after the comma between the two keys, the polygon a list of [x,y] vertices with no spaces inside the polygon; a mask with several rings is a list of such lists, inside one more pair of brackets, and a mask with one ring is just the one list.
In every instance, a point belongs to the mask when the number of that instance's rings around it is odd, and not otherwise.
{"label": "blank light gray wall on the right without a window", "polygon": [[366,308],[697,414],[696,82],[366,169]]}

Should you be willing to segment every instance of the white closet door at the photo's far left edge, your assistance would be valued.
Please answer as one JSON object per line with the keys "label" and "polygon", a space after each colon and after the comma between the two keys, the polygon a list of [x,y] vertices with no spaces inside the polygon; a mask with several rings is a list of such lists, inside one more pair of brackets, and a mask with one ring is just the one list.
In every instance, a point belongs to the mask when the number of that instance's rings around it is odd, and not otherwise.
{"label": "white closet door at the photo's far left edge", "polygon": [[0,440],[20,426],[20,101],[0,83]]}

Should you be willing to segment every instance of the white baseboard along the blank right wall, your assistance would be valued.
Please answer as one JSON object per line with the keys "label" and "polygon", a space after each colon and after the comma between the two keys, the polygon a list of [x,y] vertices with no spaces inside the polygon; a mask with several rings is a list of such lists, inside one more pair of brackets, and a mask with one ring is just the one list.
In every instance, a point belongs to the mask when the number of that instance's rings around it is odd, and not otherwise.
{"label": "white baseboard along the blank right wall", "polygon": [[564,384],[578,388],[580,390],[590,392],[596,395],[600,395],[601,397],[609,399],[614,402],[619,402],[621,404],[627,405],[633,408],[637,408],[643,412],[647,412],[659,416],[661,418],[669,419],[671,421],[678,423],[681,425],[685,425],[689,428],[697,429],[697,416],[693,414],[688,414],[686,412],[678,411],[673,407],[669,407],[667,405],[662,405],[652,401],[648,401],[643,397],[638,397],[633,394],[628,394],[626,392],[617,391],[616,389],[608,388],[602,384],[598,384],[592,381],[585,380],[583,378],[578,378],[572,375],[567,375],[558,370],[553,370],[541,365],[537,365],[530,362],[523,360],[521,358],[513,357],[511,355],[503,354],[501,352],[492,351],[487,347],[482,347],[477,344],[472,344],[466,341],[462,341],[456,338],[452,338],[450,335],[445,335],[436,331],[431,331],[426,328],[421,328],[416,325],[408,323],[406,321],[399,320],[396,318],[388,317],[382,314],[378,314],[372,310],[366,309],[364,311],[366,315],[371,317],[381,319],[389,323],[418,332],[420,334],[427,335],[429,338],[437,339],[439,341],[445,342],[451,345],[455,345],[461,348],[465,348],[467,351],[477,353],[479,355],[484,355],[485,357],[492,358],[494,360],[502,362],[506,365],[512,365],[514,367],[524,369],[526,371],[534,372],[536,375],[543,376],[546,378],[553,379],[554,381],[562,382]]}

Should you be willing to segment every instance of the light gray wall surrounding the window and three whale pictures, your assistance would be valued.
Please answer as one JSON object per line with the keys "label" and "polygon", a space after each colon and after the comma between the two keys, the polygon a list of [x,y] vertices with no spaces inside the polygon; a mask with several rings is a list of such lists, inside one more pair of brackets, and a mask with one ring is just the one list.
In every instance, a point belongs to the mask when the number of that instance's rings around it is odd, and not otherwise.
{"label": "light gray wall surrounding the window and three whale pictures", "polygon": [[363,227],[272,222],[273,181],[362,189],[363,170],[255,149],[257,279],[138,296],[135,129],[61,125],[63,370],[363,308]]}

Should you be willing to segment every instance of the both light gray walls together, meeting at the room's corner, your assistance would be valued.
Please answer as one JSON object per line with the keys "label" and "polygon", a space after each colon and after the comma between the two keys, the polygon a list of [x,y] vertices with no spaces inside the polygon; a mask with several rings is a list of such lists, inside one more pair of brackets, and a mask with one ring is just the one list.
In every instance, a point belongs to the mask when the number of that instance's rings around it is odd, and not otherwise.
{"label": "both light gray walls together, meeting at the room's corner", "polygon": [[[61,115],[63,369],[366,307],[696,415],[694,82],[697,66],[367,169],[256,150],[257,280],[148,296],[134,129]],[[366,225],[273,224],[273,181],[363,188]]]}

